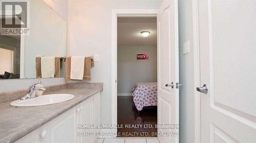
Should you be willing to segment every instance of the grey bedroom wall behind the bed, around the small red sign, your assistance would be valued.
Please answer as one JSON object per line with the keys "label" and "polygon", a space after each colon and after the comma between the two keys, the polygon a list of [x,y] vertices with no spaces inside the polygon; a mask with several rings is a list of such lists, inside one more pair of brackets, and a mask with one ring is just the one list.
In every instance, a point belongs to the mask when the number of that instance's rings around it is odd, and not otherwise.
{"label": "grey bedroom wall behind the bed, around the small red sign", "polygon": [[[137,53],[147,53],[148,60],[137,60]],[[132,95],[136,82],[157,81],[157,46],[118,46],[117,93]],[[130,93],[130,94],[129,94]]]}

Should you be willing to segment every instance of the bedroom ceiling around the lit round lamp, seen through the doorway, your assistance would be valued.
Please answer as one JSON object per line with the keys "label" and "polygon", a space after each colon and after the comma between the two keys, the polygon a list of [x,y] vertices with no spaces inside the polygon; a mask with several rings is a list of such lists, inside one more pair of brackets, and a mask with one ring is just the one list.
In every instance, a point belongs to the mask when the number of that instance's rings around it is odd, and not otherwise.
{"label": "bedroom ceiling around the lit round lamp, seen through the doorway", "polygon": [[[149,31],[148,37],[140,32]],[[156,17],[118,17],[117,18],[118,46],[157,46]]]}

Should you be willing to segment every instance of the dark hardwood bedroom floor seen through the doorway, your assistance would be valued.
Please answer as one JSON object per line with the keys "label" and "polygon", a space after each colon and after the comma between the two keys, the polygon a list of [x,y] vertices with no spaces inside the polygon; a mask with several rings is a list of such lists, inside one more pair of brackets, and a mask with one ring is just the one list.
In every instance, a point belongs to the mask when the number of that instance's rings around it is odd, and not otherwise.
{"label": "dark hardwood bedroom floor seen through the doorway", "polygon": [[[157,108],[154,106],[151,109],[142,109],[138,112],[133,102],[133,96],[117,96],[117,123],[123,125],[123,128],[117,129],[119,136],[156,136],[152,133],[157,132],[157,128],[155,128]],[[126,128],[125,125],[135,125],[136,127],[142,125],[142,128]],[[153,128],[148,128],[147,125],[152,125]]]}

